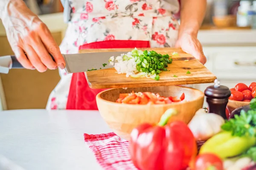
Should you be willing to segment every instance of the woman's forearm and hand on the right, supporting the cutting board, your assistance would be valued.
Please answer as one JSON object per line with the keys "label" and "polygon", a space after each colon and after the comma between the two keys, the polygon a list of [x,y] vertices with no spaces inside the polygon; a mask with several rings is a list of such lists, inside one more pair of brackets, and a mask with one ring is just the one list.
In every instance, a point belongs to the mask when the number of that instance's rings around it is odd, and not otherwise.
{"label": "woman's forearm and hand on the right, supporting the cutting board", "polygon": [[207,0],[180,0],[180,3],[180,28],[176,47],[205,64],[206,58],[197,34],[204,20]]}

